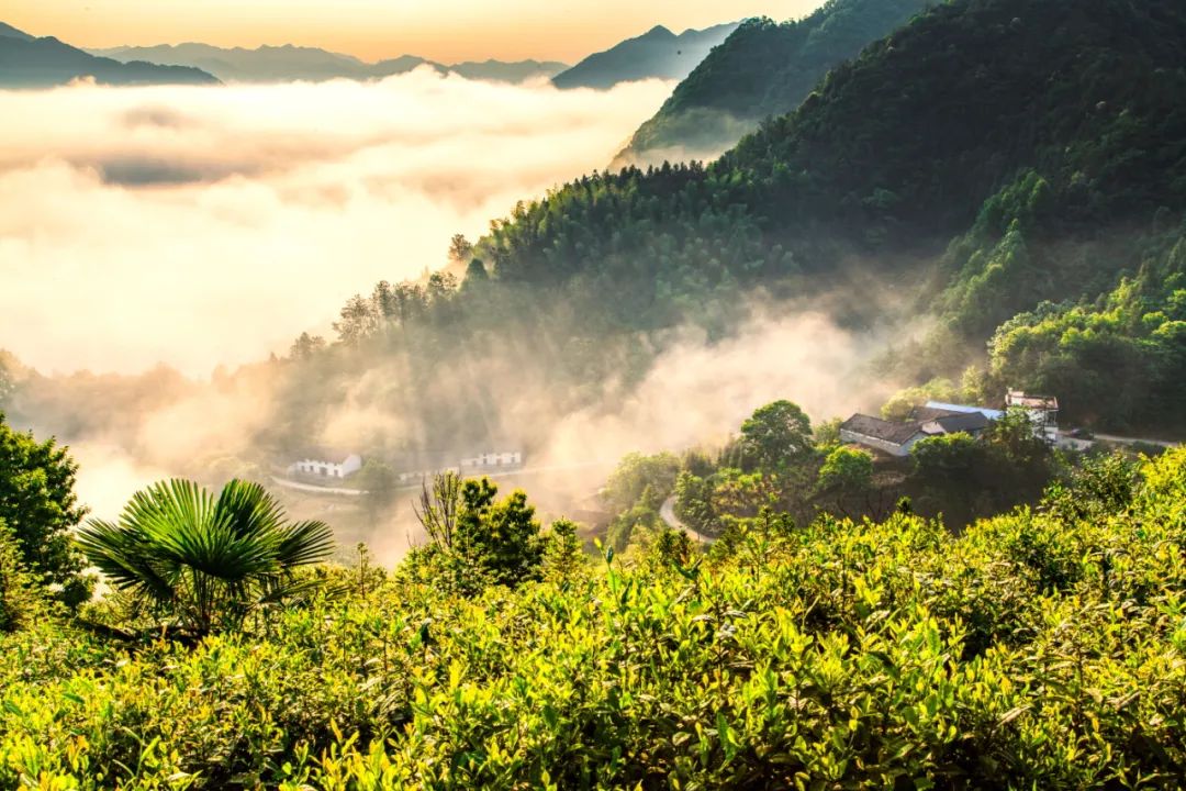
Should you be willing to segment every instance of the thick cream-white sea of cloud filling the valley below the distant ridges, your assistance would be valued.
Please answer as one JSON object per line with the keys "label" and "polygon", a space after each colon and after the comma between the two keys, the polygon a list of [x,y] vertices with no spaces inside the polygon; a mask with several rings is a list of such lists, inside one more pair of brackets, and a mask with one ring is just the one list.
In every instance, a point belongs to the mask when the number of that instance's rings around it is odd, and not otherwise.
{"label": "thick cream-white sea of cloud filling the valley below the distant ridges", "polygon": [[516,200],[606,162],[670,85],[0,91],[0,347],[204,376],[327,328]]}

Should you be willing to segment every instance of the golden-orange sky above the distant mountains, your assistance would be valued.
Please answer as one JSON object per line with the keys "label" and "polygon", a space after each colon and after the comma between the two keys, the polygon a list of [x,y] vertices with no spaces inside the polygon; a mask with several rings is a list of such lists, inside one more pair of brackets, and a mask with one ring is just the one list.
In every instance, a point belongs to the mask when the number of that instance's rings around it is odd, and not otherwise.
{"label": "golden-orange sky above the distant mountains", "polygon": [[536,58],[575,63],[655,25],[675,32],[822,0],[4,0],[0,21],[76,46],[299,44],[366,60]]}

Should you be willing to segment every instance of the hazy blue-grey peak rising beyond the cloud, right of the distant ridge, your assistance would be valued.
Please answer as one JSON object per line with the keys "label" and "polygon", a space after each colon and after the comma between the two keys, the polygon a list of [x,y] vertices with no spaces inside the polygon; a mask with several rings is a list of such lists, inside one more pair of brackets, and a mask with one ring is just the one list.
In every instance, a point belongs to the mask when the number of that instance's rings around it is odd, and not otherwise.
{"label": "hazy blue-grey peak rising beyond the cloud, right of the distant ridge", "polygon": [[606,89],[637,79],[683,79],[735,28],[733,23],[676,36],[658,25],[643,36],[591,55],[551,82],[557,88]]}

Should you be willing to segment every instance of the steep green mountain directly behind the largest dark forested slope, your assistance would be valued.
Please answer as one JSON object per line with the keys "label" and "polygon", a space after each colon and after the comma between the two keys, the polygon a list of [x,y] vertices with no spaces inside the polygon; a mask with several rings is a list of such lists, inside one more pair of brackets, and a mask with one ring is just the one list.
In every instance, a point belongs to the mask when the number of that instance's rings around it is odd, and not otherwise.
{"label": "steep green mountain directly behind the largest dark forested slope", "polygon": [[790,113],[829,69],[937,0],[828,0],[811,15],[750,19],[681,82],[616,166],[713,158],[761,119]]}

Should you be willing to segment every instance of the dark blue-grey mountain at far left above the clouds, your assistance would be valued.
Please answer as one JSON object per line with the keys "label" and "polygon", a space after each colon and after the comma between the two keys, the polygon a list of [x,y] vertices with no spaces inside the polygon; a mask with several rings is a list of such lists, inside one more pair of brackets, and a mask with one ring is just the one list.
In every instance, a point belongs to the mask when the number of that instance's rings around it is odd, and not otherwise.
{"label": "dark blue-grey mountain at far left above the clouds", "polygon": [[0,25],[0,88],[64,85],[79,77],[94,77],[98,83],[111,85],[218,82],[199,69],[142,60],[120,63],[95,57],[52,37],[34,38],[11,25]]}

